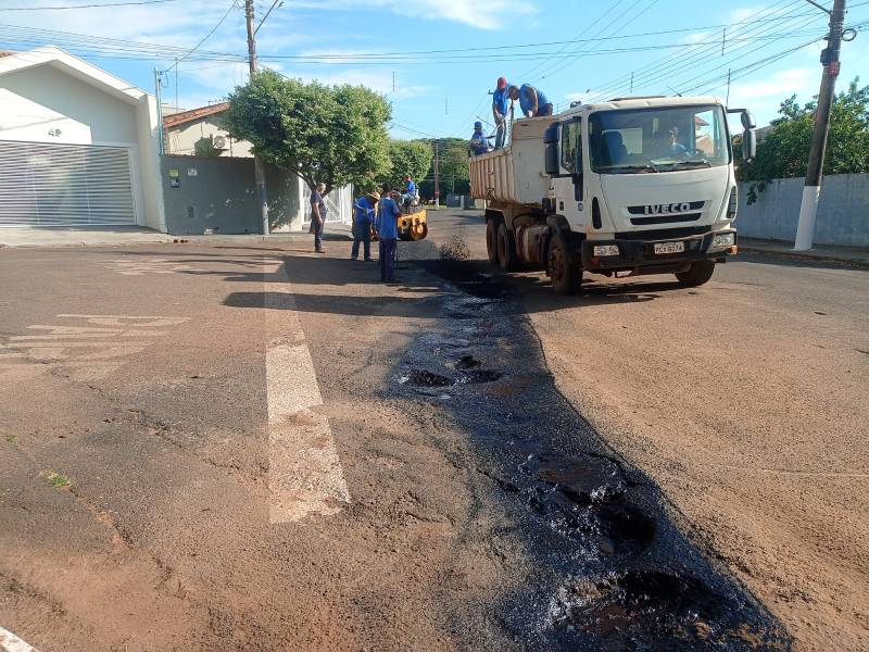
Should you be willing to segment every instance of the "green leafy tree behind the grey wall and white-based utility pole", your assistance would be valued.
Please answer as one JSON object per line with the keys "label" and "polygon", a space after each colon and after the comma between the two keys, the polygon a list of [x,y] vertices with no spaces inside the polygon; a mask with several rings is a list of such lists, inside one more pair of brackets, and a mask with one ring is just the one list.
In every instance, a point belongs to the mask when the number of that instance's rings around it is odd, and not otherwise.
{"label": "green leafy tree behind the grey wall and white-based utility pole", "polygon": [[[855,78],[833,101],[823,174],[869,172],[869,86],[858,83]],[[796,96],[781,103],[781,117],[770,123],[755,159],[739,166],[739,178],[753,181],[748,203],[771,179],[805,176],[816,109],[817,100],[801,106]]]}

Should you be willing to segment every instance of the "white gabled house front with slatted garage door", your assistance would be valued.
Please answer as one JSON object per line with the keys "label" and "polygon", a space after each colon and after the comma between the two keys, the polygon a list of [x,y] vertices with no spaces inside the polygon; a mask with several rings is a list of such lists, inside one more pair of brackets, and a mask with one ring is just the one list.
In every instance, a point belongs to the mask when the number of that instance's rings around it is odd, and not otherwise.
{"label": "white gabled house front with slatted garage door", "polygon": [[0,55],[0,227],[165,231],[156,101],[59,48]]}

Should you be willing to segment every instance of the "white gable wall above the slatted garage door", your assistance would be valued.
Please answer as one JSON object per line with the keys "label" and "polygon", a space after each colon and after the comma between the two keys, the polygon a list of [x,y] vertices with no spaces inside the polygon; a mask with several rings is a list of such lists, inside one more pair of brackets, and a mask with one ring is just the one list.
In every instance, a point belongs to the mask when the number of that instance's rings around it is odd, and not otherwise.
{"label": "white gable wall above the slatted garage door", "polygon": [[135,143],[136,110],[42,64],[0,76],[0,140]]}

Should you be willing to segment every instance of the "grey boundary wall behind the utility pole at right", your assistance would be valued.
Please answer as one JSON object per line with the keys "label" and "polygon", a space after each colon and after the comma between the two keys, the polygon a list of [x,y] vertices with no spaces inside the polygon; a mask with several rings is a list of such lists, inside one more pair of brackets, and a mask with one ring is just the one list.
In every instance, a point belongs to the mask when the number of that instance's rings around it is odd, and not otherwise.
{"label": "grey boundary wall behind the utility pole at right", "polygon": [[[740,184],[736,229],[746,238],[793,241],[805,179],[774,179],[747,203],[750,181]],[[818,204],[817,244],[869,247],[869,174],[823,177]]]}

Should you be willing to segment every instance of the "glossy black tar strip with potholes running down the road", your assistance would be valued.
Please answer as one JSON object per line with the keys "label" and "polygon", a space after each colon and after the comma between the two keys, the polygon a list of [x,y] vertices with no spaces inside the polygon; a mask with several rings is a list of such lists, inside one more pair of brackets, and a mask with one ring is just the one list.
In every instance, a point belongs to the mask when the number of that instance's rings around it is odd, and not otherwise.
{"label": "glossy black tar strip with potholes running down the road", "polygon": [[[429,299],[443,317],[405,349],[398,375],[438,369],[451,381],[440,405],[524,540],[522,588],[493,607],[517,645],[789,650],[783,626],[562,397],[508,277],[476,262],[420,266],[446,281]],[[487,373],[494,362],[501,371]],[[462,383],[469,374],[491,380]],[[398,397],[419,400],[408,385],[395,386]]]}

